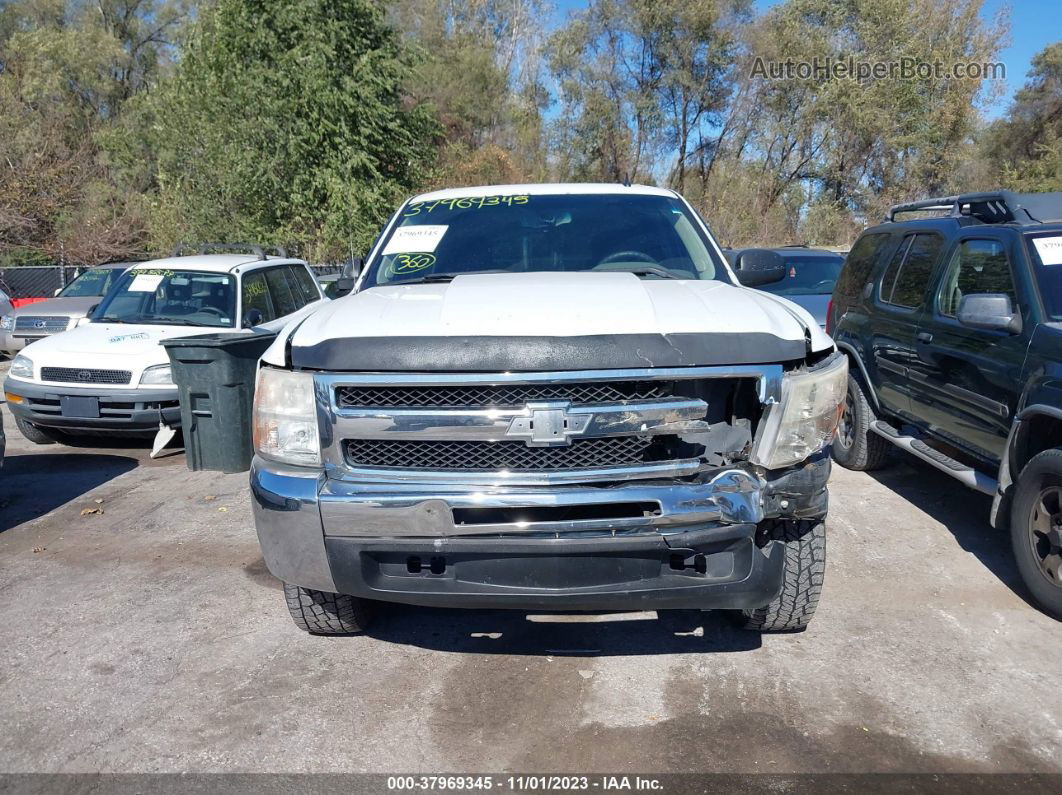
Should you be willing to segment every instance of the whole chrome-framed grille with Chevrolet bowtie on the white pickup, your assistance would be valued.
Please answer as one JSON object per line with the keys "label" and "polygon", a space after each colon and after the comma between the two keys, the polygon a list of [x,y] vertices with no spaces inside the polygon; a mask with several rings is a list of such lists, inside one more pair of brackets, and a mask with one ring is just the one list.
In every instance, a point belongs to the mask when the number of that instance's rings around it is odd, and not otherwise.
{"label": "whole chrome-framed grille with Chevrolet bowtie on the white pickup", "polygon": [[542,485],[686,479],[748,460],[781,365],[318,374],[330,478]]}

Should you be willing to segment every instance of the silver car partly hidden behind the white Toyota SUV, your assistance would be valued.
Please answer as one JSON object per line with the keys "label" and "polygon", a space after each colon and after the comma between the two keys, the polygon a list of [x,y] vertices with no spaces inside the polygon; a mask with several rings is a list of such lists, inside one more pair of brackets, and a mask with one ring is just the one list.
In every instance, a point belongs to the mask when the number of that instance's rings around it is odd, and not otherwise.
{"label": "silver car partly hidden behind the white Toyota SUV", "polygon": [[0,317],[0,351],[15,353],[32,342],[75,328],[133,262],[90,267],[54,298],[8,310]]}

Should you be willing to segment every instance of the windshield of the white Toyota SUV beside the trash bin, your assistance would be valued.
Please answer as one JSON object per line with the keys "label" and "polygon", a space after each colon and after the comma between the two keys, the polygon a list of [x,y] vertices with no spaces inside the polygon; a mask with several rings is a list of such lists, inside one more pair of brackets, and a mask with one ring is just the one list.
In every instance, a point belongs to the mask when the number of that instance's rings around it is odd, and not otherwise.
{"label": "windshield of the white Toyota SUV beside the trash bin", "polygon": [[126,272],[92,315],[97,323],[232,327],[235,280],[228,274],[141,267]]}

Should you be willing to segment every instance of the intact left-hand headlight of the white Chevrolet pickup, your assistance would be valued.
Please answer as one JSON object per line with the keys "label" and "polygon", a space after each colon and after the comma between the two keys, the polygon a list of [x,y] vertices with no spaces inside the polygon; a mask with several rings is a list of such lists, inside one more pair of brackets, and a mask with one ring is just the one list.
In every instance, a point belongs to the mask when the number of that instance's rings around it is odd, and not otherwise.
{"label": "intact left-hand headlight of the white Chevrolet pickup", "polygon": [[255,387],[255,451],[285,464],[321,464],[313,375],[261,367]]}

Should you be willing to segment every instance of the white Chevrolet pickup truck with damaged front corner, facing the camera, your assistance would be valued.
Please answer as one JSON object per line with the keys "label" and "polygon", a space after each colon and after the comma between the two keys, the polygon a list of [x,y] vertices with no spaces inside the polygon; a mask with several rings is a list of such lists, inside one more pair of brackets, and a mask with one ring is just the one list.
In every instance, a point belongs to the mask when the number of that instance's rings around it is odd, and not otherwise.
{"label": "white Chevrolet pickup truck with damaged front corner, facing the camera", "polygon": [[847,360],[679,194],[429,193],[366,262],[259,369],[255,523],[299,627],[377,600],[807,625]]}

